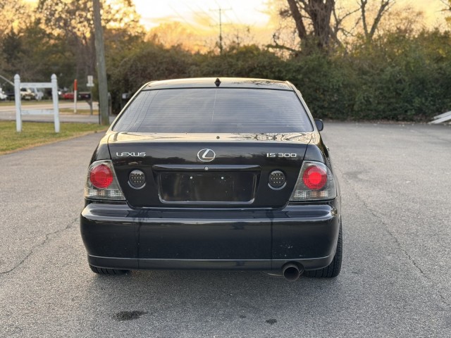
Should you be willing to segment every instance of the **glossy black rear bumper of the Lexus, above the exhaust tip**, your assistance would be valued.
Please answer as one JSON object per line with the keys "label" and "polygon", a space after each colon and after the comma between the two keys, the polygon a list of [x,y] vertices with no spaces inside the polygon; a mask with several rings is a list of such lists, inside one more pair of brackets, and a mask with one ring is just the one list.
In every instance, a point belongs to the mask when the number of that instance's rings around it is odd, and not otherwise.
{"label": "glossy black rear bumper of the Lexus, above the exhaust tip", "polygon": [[333,259],[339,228],[340,198],[274,211],[88,204],[80,217],[89,263],[130,270],[319,269]]}

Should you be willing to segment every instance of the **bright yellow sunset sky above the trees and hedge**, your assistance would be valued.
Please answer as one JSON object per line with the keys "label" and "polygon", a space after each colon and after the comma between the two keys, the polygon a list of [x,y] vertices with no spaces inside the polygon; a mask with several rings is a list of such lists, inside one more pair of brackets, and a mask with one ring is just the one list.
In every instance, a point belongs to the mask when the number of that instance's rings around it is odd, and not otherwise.
{"label": "bright yellow sunset sky above the trees and hedge", "polygon": [[[37,0],[24,1],[37,4]],[[107,0],[107,3],[108,1],[115,0]],[[242,44],[271,44],[273,34],[280,23],[274,4],[286,4],[286,0],[133,0],[133,2],[137,13],[141,16],[142,25],[147,30],[152,30],[151,35],[156,34],[161,43],[180,44],[199,51],[214,46],[218,41],[219,8],[222,8],[225,44],[237,41],[237,38]],[[355,9],[358,8],[358,2],[358,0],[336,0],[336,6]],[[379,3],[380,0],[369,1],[370,5]],[[428,29],[433,27],[449,29],[450,26],[445,23],[445,13],[441,11],[445,8],[441,0],[396,0],[389,13],[409,18],[412,13],[404,11],[407,6],[423,13],[419,22]],[[347,20],[345,25],[353,27],[357,17]],[[292,39],[291,30],[283,32],[285,42]]]}

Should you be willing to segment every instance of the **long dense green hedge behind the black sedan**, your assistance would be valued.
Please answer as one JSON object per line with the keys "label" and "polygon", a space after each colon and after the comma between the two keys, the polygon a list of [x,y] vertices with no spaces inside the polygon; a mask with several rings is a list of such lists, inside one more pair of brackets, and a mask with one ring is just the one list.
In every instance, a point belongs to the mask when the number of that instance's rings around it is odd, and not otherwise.
{"label": "long dense green hedge behind the black sedan", "polygon": [[450,42],[449,32],[396,32],[356,42],[347,52],[286,59],[255,45],[217,55],[147,42],[110,73],[110,86],[117,97],[149,80],[176,77],[289,80],[318,118],[424,121],[451,110]]}

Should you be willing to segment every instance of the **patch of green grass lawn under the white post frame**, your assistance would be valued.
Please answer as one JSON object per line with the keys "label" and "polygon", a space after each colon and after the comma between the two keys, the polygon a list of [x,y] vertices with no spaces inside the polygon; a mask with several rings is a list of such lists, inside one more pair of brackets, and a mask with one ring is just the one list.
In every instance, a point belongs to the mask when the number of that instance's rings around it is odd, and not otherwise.
{"label": "patch of green grass lawn under the white post frame", "polygon": [[56,133],[54,123],[23,122],[22,132],[16,132],[15,121],[0,121],[0,155],[62,139],[105,132],[106,129],[105,126],[88,123],[61,123],[60,132]]}

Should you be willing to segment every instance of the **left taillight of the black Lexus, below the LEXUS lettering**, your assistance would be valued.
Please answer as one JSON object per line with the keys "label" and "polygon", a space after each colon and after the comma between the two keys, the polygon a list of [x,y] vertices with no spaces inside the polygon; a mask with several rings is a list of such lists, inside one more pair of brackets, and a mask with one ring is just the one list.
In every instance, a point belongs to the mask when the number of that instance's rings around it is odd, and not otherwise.
{"label": "left taillight of the black Lexus, below the LEXUS lettering", "polygon": [[124,195],[118,184],[110,160],[95,161],[89,165],[85,186],[86,199],[106,199],[124,201]]}

